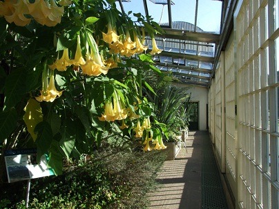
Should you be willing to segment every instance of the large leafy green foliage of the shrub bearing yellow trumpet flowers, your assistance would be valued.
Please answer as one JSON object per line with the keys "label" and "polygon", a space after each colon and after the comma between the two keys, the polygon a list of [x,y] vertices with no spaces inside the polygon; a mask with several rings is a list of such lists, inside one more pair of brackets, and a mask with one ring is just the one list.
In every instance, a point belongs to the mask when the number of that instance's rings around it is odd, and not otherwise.
{"label": "large leafy green foliage of the shrub bearing yellow trumpet flowers", "polygon": [[[63,159],[79,159],[97,150],[102,141],[110,140],[108,136],[117,128],[117,135],[137,141],[133,132],[136,119],[126,117],[128,128],[124,130],[119,129],[120,120],[99,120],[104,115],[106,101],[113,98],[114,92],[126,111],[133,111],[140,120],[154,113],[153,105],[142,94],[145,89],[154,93],[143,74],[152,71],[160,76],[160,70],[153,66],[151,55],[140,54],[122,61],[123,55],[119,52],[112,54],[103,38],[103,32],[108,32],[108,23],[115,26],[121,41],[126,31],[131,33],[133,41],[141,37],[138,26],[145,26],[148,34],[164,32],[151,17],[140,13],[135,14],[138,22],[134,23],[117,10],[113,0],[73,0],[64,11],[61,22],[52,27],[41,25],[33,17],[26,26],[8,23],[6,17],[0,17],[0,157],[8,149],[37,148],[38,160],[48,153],[48,166],[56,175],[62,173]],[[70,64],[75,60],[77,43],[83,59],[89,60],[89,52],[93,51],[102,61],[115,58],[117,68],[108,70],[107,74],[84,73],[81,66],[85,64]],[[66,57],[71,60],[69,66],[65,59],[60,63],[65,69],[58,69],[57,65],[52,69],[50,66],[57,60],[65,58],[65,49],[68,50]],[[53,98],[49,99],[50,96]],[[27,106],[30,99],[31,107]],[[38,110],[39,120],[32,118]],[[0,180],[7,181],[5,169],[0,166]]]}

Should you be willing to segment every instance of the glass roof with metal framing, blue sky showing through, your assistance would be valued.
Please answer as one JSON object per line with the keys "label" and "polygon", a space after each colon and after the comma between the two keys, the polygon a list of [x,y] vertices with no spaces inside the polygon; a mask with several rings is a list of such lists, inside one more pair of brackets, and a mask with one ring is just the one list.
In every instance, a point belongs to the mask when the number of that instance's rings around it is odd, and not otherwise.
{"label": "glass roof with metal framing, blue sky showing through", "polygon": [[[162,50],[154,57],[157,68],[172,71],[182,82],[209,86],[220,41],[222,0],[118,1],[122,12],[150,15],[166,31],[156,37]],[[146,45],[151,46],[148,37]]]}

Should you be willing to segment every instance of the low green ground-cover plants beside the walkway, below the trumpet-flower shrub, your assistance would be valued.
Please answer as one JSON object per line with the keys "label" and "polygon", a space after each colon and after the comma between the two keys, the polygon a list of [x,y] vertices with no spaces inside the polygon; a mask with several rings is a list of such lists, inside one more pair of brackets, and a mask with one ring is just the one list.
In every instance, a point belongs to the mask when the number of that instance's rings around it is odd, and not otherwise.
{"label": "low green ground-cover plants beside the walkway, below the trumpet-flower shrub", "polygon": [[[146,192],[157,186],[164,153],[102,147],[79,165],[68,163],[64,175],[32,180],[28,208],[146,208]],[[0,208],[24,208],[23,190],[23,185],[17,191],[1,190]],[[9,199],[9,192],[18,192],[17,198]]]}

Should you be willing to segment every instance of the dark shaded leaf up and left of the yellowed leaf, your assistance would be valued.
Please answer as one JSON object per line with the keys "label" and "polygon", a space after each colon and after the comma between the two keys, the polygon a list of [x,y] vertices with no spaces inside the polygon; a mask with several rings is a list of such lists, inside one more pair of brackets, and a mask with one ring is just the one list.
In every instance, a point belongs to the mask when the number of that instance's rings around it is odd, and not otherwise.
{"label": "dark shaded leaf up and left of the yellowed leaf", "polygon": [[4,92],[6,95],[4,109],[14,107],[26,92],[26,70],[17,68],[6,78]]}

